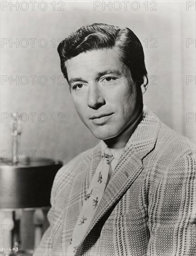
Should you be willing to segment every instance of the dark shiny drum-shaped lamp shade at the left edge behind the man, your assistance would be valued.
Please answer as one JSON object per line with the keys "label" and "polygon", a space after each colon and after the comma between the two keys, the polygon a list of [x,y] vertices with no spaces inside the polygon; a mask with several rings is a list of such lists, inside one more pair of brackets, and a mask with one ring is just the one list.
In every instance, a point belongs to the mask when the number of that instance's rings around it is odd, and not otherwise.
{"label": "dark shiny drum-shaped lamp shade at the left edge behind the man", "polygon": [[52,159],[28,159],[0,166],[0,208],[40,208],[50,206],[52,184],[62,162]]}

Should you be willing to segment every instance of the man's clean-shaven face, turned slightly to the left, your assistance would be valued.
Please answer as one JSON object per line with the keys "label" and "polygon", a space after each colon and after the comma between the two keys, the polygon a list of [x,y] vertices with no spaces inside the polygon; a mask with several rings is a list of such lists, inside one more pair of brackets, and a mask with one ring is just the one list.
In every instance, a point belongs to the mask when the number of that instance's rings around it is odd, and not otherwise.
{"label": "man's clean-shaven face, turned slightly to the left", "polygon": [[81,53],[66,67],[76,111],[96,138],[113,138],[135,121],[139,95],[118,48]]}

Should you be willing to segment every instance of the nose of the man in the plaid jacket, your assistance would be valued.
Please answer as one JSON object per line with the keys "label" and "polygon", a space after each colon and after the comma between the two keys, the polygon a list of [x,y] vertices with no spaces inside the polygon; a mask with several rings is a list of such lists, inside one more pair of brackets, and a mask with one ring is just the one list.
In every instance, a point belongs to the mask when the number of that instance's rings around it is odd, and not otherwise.
{"label": "nose of the man in the plaid jacket", "polygon": [[88,92],[88,106],[89,108],[98,109],[102,105],[105,105],[105,100],[103,95],[101,94],[100,88],[97,85],[89,86]]}

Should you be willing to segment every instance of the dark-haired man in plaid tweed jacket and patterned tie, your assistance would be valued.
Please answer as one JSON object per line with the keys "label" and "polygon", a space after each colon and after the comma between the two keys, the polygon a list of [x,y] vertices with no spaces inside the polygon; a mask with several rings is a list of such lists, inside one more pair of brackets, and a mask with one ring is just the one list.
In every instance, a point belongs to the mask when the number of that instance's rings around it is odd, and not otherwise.
{"label": "dark-haired man in plaid tweed jacket and patterned tie", "polygon": [[58,171],[53,187],[64,194],[51,195],[50,227],[34,255],[195,255],[195,148],[143,107],[139,39],[95,23],[58,53],[76,111],[100,142]]}

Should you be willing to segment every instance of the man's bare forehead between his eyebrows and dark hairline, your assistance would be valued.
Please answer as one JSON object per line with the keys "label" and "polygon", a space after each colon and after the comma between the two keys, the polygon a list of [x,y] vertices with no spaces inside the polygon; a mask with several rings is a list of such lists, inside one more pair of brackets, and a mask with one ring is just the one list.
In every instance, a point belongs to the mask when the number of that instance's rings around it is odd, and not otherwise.
{"label": "man's bare forehead between his eyebrows and dark hairline", "polygon": [[69,79],[77,76],[92,76],[105,70],[119,70],[124,74],[127,67],[120,61],[118,48],[99,49],[78,54],[65,63]]}

